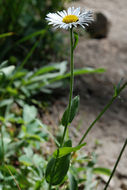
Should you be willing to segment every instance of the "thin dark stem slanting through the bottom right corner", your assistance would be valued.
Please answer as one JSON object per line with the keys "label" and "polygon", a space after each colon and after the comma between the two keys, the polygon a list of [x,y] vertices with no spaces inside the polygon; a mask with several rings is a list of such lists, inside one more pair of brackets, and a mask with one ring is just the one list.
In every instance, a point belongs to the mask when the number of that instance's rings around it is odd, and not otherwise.
{"label": "thin dark stem slanting through the bottom right corner", "polygon": [[115,166],[114,166],[114,168],[113,168],[113,170],[112,170],[112,173],[111,173],[111,175],[110,175],[110,178],[109,178],[108,182],[106,183],[106,186],[105,186],[104,190],[107,190],[107,188],[108,188],[108,186],[109,186],[109,183],[110,183],[110,181],[111,181],[111,179],[112,179],[112,177],[113,177],[113,175],[114,175],[114,173],[115,173],[115,171],[116,171],[116,168],[117,168],[118,163],[119,163],[119,161],[120,161],[120,159],[121,159],[121,156],[122,156],[122,154],[123,154],[123,152],[124,152],[124,150],[125,150],[125,148],[126,148],[126,145],[127,145],[127,139],[125,140],[125,143],[124,143],[124,145],[123,145],[123,147],[122,147],[122,149],[121,149],[121,152],[120,152],[120,154],[119,154],[119,156],[118,156],[118,159],[117,159],[117,161],[116,161],[116,163],[115,163]]}

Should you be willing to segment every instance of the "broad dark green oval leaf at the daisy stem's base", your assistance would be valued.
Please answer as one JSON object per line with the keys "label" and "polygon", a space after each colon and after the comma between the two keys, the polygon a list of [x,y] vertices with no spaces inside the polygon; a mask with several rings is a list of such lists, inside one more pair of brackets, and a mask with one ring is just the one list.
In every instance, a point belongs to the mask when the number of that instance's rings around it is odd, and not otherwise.
{"label": "broad dark green oval leaf at the daisy stem's base", "polygon": [[[71,140],[65,142],[64,146],[71,146]],[[63,156],[62,158],[52,157],[47,164],[46,168],[46,181],[52,185],[60,184],[67,175],[70,165],[70,154]]]}

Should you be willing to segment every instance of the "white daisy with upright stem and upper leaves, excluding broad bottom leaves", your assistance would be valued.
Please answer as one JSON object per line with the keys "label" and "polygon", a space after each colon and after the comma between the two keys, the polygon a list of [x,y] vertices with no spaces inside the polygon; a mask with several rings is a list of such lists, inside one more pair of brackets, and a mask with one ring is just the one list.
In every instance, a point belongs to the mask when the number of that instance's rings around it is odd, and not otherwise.
{"label": "white daisy with upright stem and upper leaves, excluding broad bottom leaves", "polygon": [[64,112],[63,118],[62,118],[62,124],[65,126],[63,138],[61,141],[61,147],[64,143],[64,138],[67,130],[67,126],[69,123],[72,122],[78,108],[79,103],[79,96],[75,97],[72,100],[73,97],[73,82],[74,82],[74,61],[73,61],[73,52],[76,48],[76,45],[78,43],[78,34],[76,32],[73,33],[73,28],[77,27],[78,25],[85,28],[85,26],[88,26],[89,23],[93,21],[93,12],[87,11],[87,10],[80,10],[79,8],[69,7],[67,11],[58,11],[57,13],[49,13],[47,14],[46,20],[49,22],[49,24],[53,25],[55,28],[63,28],[66,30],[70,30],[70,70],[71,70],[71,76],[70,76],[70,96],[69,96],[69,104],[67,109]]}

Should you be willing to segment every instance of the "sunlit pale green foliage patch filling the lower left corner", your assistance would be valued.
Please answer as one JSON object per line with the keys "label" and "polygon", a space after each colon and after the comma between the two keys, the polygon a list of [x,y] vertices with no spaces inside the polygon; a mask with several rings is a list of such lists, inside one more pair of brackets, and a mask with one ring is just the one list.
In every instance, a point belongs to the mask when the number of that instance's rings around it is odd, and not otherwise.
{"label": "sunlit pale green foliage patch filling the lower left corner", "polygon": [[17,189],[14,178],[21,189],[47,189],[43,182],[47,162],[41,146],[48,140],[48,134],[42,130],[36,113],[34,106],[24,105],[17,115],[7,106],[6,114],[0,117],[6,162],[0,166],[0,189]]}

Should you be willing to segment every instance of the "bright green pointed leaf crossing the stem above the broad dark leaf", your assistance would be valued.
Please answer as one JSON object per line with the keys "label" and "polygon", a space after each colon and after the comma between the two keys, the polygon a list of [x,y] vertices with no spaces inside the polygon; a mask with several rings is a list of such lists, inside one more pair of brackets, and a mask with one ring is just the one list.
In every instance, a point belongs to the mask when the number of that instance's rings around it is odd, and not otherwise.
{"label": "bright green pointed leaf crossing the stem above the broad dark leaf", "polygon": [[[77,150],[80,150],[83,146],[85,146],[86,143],[83,143],[81,145],[75,146],[75,147],[62,147],[59,148],[57,150],[55,150],[55,152],[53,153],[53,156],[56,158],[61,158],[67,154],[70,154],[71,152],[75,152]],[[59,151],[59,153],[58,153]]]}

